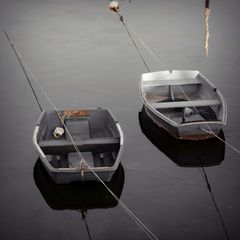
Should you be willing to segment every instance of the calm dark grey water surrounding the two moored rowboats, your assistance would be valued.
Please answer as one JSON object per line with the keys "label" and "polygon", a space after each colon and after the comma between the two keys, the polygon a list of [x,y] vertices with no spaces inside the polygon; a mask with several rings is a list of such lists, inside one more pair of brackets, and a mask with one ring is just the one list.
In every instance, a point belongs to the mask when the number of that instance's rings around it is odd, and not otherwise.
{"label": "calm dark grey water surrounding the two moored rowboats", "polygon": [[[120,4],[126,21],[169,69],[199,70],[222,91],[228,103],[225,139],[239,149],[240,2],[211,1],[208,58],[204,1]],[[0,23],[58,108],[112,110],[126,147],[111,187],[159,239],[226,239],[202,169],[186,167],[199,161],[210,165],[204,169],[230,239],[240,239],[239,155],[216,142],[179,145],[144,122],[138,81],[146,70],[107,5],[1,0]],[[163,70],[143,54],[151,70]],[[32,146],[39,110],[3,32],[0,81],[0,239],[89,239],[87,226],[92,239],[147,239],[101,186],[49,182]],[[87,211],[87,226],[79,209]]]}

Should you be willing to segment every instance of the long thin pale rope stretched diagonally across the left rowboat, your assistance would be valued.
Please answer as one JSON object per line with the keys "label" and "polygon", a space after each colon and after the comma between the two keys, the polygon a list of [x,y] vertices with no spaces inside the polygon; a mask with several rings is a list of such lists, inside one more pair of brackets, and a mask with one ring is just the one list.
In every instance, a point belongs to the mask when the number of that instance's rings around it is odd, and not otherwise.
{"label": "long thin pale rope stretched diagonally across the left rowboat", "polygon": [[[6,36],[8,36],[7,32],[4,30]],[[72,145],[75,149],[75,151],[77,152],[77,155],[80,159],[80,163],[83,162],[86,167],[93,173],[93,175],[97,178],[97,180],[99,182],[102,183],[102,185],[109,191],[109,193],[114,197],[114,199],[120,204],[120,206],[124,209],[124,211],[128,214],[128,216],[130,216],[132,218],[132,220],[139,226],[139,228],[146,234],[146,236],[150,239],[150,240],[159,240],[159,238],[116,196],[116,194],[114,194],[114,192],[106,185],[106,183],[97,175],[97,173],[91,168],[91,166],[84,160],[79,148],[76,145],[76,142],[74,141],[72,135],[70,134],[67,126],[65,125],[61,115],[59,114],[59,110],[57,109],[57,107],[55,106],[55,104],[53,103],[53,101],[51,100],[51,98],[48,96],[48,94],[46,93],[46,91],[44,90],[44,88],[41,86],[39,80],[36,78],[36,76],[33,74],[33,72],[31,71],[30,67],[27,65],[27,63],[24,61],[24,59],[22,58],[20,52],[18,51],[18,49],[14,46],[13,42],[10,40],[9,36],[7,37],[8,41],[11,43],[11,46],[15,49],[14,52],[15,54],[18,56],[18,61],[22,63],[22,68],[24,69],[25,67],[27,68],[28,72],[30,73],[32,79],[35,81],[35,83],[38,85],[38,87],[40,88],[40,90],[42,91],[42,93],[44,94],[44,96],[46,97],[46,99],[48,100],[48,102],[50,103],[50,105],[54,108],[54,110],[56,111],[59,119],[61,120],[63,126],[65,127],[66,132],[69,135],[70,141],[72,142]],[[27,71],[24,71],[27,74]],[[28,79],[30,80],[30,78],[28,77]],[[40,105],[41,106],[41,105]]]}

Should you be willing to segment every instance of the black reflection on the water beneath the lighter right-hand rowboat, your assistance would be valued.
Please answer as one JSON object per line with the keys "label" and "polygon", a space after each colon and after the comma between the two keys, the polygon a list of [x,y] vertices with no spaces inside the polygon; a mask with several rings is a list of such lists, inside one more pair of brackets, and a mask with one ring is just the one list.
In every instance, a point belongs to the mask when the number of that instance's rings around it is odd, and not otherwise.
{"label": "black reflection on the water beneath the lighter right-hand rowboat", "polygon": [[[177,140],[154,124],[144,107],[139,112],[139,123],[144,135],[178,166],[208,167],[219,165],[224,160],[225,143],[217,138],[202,141]],[[219,137],[224,140],[222,130]]]}

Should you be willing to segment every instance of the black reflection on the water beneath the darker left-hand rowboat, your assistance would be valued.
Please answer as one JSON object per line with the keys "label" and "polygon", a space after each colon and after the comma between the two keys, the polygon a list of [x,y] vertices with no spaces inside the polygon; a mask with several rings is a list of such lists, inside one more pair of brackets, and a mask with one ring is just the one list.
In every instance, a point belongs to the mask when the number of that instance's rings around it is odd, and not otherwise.
{"label": "black reflection on the water beneath the darker left-hand rowboat", "polygon": [[[112,208],[118,201],[100,182],[73,182],[70,184],[56,184],[40,159],[34,166],[35,184],[43,198],[54,210],[81,210],[96,208]],[[112,179],[106,185],[118,197],[121,197],[124,186],[124,169],[120,164]]]}

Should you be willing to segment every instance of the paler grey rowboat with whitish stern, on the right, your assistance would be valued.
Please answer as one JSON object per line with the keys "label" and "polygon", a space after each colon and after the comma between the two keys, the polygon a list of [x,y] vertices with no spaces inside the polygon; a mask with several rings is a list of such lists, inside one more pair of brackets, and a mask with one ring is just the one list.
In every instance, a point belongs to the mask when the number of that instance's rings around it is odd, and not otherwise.
{"label": "paler grey rowboat with whitish stern, on the right", "polygon": [[226,124],[223,95],[199,71],[144,73],[139,90],[147,115],[177,139],[212,138]]}

